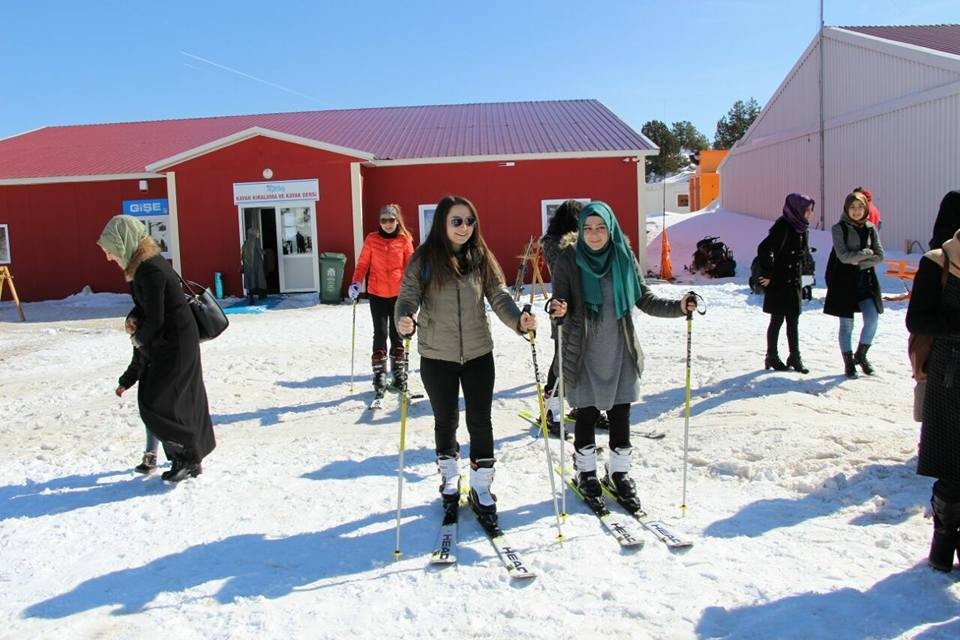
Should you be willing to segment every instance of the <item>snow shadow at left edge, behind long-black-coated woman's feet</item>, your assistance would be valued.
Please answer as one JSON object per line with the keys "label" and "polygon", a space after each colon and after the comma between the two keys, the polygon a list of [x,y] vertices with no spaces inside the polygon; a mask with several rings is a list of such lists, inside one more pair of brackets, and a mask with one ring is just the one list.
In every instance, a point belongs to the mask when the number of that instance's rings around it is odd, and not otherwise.
{"label": "snow shadow at left edge, behind long-black-coated woman's feet", "polygon": [[166,493],[169,487],[163,485],[144,482],[144,476],[134,476],[129,469],[8,485],[0,487],[0,520],[51,516]]}

